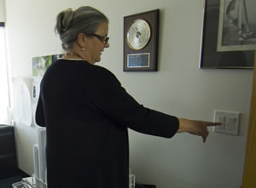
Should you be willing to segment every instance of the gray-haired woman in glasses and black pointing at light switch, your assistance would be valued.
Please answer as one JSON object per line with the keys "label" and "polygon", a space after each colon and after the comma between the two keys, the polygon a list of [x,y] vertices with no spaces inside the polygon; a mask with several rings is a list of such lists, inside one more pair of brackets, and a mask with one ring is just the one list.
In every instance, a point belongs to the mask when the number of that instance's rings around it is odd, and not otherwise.
{"label": "gray-haired woman in glasses and black pointing at light switch", "polygon": [[36,121],[47,129],[49,188],[128,188],[127,128],[171,138],[207,139],[219,123],[172,117],[139,105],[113,73],[95,63],[108,43],[108,19],[96,9],[67,9],[55,30],[67,54],[44,74]]}

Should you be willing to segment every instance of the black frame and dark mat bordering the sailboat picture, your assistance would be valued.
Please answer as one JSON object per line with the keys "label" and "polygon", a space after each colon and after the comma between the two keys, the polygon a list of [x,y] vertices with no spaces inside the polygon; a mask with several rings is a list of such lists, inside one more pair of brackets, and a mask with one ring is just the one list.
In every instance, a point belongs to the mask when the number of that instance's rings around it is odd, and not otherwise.
{"label": "black frame and dark mat bordering the sailboat picture", "polygon": [[206,0],[200,68],[252,69],[254,50],[217,51],[220,0]]}

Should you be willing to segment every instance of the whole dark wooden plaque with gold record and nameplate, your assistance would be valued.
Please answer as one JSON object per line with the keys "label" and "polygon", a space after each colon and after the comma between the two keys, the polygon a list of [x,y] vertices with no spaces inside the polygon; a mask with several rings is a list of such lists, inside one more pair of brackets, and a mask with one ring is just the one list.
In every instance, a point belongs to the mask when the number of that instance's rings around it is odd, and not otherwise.
{"label": "whole dark wooden plaque with gold record and nameplate", "polygon": [[157,71],[159,12],[124,17],[124,71]]}

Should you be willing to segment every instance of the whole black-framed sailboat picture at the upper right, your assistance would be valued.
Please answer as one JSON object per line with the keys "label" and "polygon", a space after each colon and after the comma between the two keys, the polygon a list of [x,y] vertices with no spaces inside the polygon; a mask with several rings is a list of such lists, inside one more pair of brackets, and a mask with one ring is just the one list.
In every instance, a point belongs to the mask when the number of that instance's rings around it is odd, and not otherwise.
{"label": "whole black-framed sailboat picture at the upper right", "polygon": [[201,68],[253,68],[255,0],[206,0]]}

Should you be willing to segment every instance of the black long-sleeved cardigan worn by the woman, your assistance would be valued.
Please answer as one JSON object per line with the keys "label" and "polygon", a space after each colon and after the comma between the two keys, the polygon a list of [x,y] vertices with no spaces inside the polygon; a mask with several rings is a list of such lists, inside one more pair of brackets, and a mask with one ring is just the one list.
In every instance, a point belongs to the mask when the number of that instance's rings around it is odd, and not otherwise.
{"label": "black long-sleeved cardigan worn by the woman", "polygon": [[48,188],[128,188],[127,128],[166,138],[178,129],[177,117],[138,104],[113,73],[84,60],[57,60],[40,88]]}

